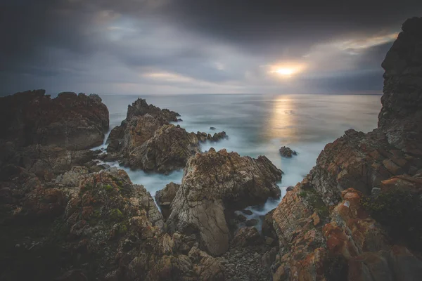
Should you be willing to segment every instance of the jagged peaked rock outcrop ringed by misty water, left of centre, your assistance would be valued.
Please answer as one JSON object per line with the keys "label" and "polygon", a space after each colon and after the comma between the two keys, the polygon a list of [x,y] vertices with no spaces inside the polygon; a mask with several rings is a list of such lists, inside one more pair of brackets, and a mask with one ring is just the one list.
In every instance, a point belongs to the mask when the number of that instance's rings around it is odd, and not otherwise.
{"label": "jagged peaked rock outcrop ringed by misty water, left of centre", "polygon": [[228,138],[226,133],[188,133],[177,121],[179,114],[161,110],[138,99],[127,110],[127,118],[108,136],[106,159],[125,166],[167,173],[185,166],[188,157],[200,151],[200,143]]}

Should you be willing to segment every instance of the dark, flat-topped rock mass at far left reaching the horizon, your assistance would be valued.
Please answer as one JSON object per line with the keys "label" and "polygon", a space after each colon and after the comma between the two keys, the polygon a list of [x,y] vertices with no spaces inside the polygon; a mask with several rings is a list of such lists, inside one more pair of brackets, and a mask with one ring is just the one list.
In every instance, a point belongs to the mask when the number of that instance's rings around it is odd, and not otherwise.
{"label": "dark, flat-topped rock mass at far left reaching the horizon", "polygon": [[1,138],[18,146],[57,145],[81,150],[101,145],[108,130],[108,109],[101,98],[83,93],[44,90],[15,93],[0,98]]}

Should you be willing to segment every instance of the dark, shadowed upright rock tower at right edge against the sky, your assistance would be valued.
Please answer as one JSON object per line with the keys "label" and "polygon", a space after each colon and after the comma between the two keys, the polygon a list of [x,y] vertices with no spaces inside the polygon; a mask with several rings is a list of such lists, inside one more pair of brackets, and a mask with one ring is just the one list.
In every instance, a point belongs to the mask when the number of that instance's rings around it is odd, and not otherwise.
{"label": "dark, shadowed upright rock tower at right edge against the sky", "polygon": [[422,18],[406,20],[402,30],[382,63],[384,94],[378,127],[390,145],[421,156]]}

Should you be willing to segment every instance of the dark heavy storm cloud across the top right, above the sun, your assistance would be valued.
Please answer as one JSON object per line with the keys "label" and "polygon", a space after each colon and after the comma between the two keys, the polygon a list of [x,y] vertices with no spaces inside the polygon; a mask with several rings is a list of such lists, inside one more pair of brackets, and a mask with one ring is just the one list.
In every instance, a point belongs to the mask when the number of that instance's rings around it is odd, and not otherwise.
{"label": "dark heavy storm cloud across the top right, above the sun", "polygon": [[253,51],[290,47],[290,55],[310,44],[362,32],[399,30],[403,20],[420,15],[418,0],[255,1],[181,0],[165,6],[174,22]]}

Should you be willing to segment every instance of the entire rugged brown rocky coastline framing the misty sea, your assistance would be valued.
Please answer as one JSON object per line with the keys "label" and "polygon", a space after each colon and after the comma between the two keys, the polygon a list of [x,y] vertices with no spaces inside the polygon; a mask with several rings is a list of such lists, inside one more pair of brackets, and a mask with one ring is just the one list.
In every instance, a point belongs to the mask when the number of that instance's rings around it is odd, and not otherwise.
{"label": "entire rugged brown rocky coastline framing the misty sea", "polygon": [[[177,112],[138,99],[103,152],[90,149],[109,126],[99,96],[0,98],[0,279],[419,280],[421,46],[422,18],[411,18],[382,64],[378,128],[328,143],[262,227],[239,212],[279,198],[283,171],[264,156],[201,151],[224,131],[187,132]],[[155,204],[100,160],[184,174]]]}

